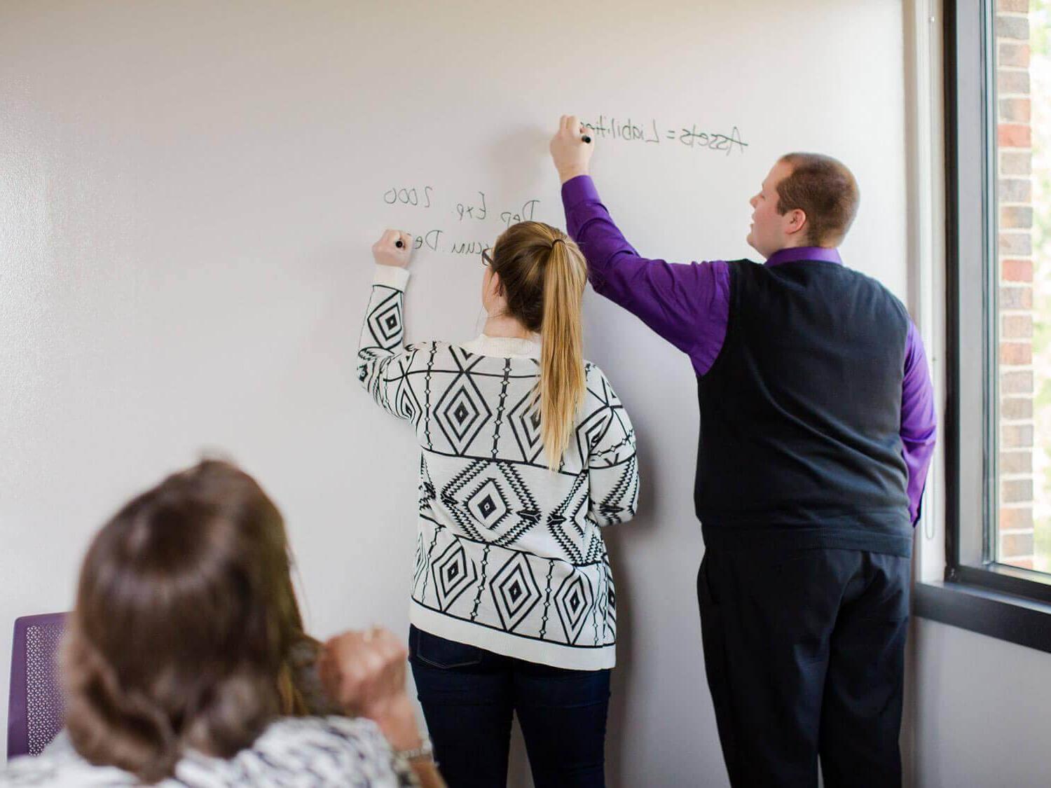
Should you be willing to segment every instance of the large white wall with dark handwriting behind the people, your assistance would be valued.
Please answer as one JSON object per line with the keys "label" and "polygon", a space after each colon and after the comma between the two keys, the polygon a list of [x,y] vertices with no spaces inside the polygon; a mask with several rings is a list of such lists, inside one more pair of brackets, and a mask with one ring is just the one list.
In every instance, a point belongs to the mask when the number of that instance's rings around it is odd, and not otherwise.
{"label": "large white wall with dark handwriting behind the people", "polygon": [[[561,112],[740,129],[729,155],[597,141],[607,205],[671,260],[745,255],[778,154],[842,158],[863,193],[846,260],[904,297],[904,29],[886,0],[0,4],[0,692],[12,620],[67,609],[94,530],[202,449],[283,507],[318,635],[406,630],[415,452],[354,375],[368,246],[389,225],[490,242],[533,199],[562,224]],[[413,185],[431,208],[387,205]],[[489,215],[460,221],[479,190]],[[476,258],[414,269],[410,337],[471,336]],[[634,318],[586,309],[644,483],[610,534],[611,784],[725,785],[694,598],[694,379]]]}

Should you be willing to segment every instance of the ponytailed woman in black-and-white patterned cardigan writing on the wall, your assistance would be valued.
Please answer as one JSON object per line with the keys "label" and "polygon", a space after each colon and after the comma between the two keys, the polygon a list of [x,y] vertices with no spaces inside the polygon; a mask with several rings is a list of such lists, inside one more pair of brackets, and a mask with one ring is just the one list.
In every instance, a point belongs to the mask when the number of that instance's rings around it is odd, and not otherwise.
{"label": "ponytailed woman in black-and-white patterned cardigan writing on the wall", "polygon": [[584,258],[538,222],[482,252],[483,333],[403,346],[412,236],[388,230],[358,350],[420,445],[410,661],[454,788],[503,786],[517,712],[537,788],[602,786],[615,661],[601,528],[638,497],[635,434],[583,359]]}

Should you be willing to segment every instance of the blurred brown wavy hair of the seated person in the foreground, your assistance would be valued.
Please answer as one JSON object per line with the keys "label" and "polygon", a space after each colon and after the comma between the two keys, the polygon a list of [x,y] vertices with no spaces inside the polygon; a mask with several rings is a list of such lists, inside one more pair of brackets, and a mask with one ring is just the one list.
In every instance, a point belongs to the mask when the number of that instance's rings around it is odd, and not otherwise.
{"label": "blurred brown wavy hair of the seated person in the foreground", "polygon": [[81,568],[62,675],[89,762],[144,783],[183,751],[231,758],[281,714],[303,631],[285,525],[251,476],[206,460],[128,502]]}

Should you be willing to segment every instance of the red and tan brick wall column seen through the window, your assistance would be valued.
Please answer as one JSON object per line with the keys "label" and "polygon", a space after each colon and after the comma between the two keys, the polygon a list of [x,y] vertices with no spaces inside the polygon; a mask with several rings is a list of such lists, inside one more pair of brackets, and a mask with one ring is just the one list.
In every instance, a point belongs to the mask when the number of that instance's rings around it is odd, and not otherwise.
{"label": "red and tan brick wall column seen through the window", "polygon": [[1029,0],[996,2],[1000,560],[1033,565],[1033,206]]}

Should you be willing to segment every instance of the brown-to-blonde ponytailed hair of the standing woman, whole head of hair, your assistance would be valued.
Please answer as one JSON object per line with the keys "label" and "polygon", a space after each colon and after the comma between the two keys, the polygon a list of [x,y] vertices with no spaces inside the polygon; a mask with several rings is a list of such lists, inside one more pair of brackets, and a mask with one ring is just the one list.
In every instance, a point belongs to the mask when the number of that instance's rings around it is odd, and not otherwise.
{"label": "brown-to-blonde ponytailed hair of the standing woman, whole head of hair", "polygon": [[548,468],[562,460],[584,397],[583,328],[580,306],[588,263],[561,230],[542,222],[520,222],[493,246],[508,313],[540,334],[540,435]]}

